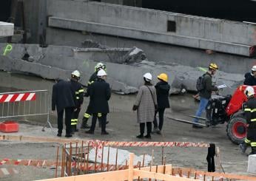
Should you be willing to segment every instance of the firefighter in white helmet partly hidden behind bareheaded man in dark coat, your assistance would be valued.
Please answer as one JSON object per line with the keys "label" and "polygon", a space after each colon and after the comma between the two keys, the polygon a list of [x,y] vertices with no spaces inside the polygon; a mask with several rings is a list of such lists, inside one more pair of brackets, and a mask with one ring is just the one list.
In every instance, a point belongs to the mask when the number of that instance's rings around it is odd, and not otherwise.
{"label": "firefighter in white helmet partly hidden behind bareheaded man in dark coat", "polygon": [[71,117],[71,134],[74,134],[74,132],[78,132],[77,124],[78,124],[78,116],[81,111],[81,104],[84,101],[84,89],[81,83],[79,83],[80,79],[80,72],[78,70],[75,70],[71,73],[70,83],[71,87],[73,89],[73,92],[75,92],[75,110],[73,112],[73,115]]}

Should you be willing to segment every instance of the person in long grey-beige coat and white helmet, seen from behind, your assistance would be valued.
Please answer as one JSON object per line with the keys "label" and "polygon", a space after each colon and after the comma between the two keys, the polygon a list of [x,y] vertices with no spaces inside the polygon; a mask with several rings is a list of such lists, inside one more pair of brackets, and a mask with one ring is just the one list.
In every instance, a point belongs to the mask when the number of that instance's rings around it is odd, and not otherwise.
{"label": "person in long grey-beige coat and white helmet, seen from behind", "polygon": [[140,132],[137,137],[144,138],[144,130],[146,124],[146,136],[145,138],[151,138],[152,122],[154,120],[155,110],[157,109],[157,100],[155,86],[150,83],[152,81],[152,75],[150,73],[144,74],[144,85],[138,90],[138,95],[133,111],[137,110],[137,122],[140,123]]}

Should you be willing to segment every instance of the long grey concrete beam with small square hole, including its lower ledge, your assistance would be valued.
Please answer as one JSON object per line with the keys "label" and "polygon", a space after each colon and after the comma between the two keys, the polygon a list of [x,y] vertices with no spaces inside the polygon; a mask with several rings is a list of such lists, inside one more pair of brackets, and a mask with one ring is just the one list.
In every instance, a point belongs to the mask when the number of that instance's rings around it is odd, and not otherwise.
{"label": "long grey concrete beam with small square hole, including its lower ledge", "polygon": [[[249,56],[256,27],[235,21],[92,1],[48,0],[50,27],[85,30],[166,44]],[[176,32],[167,32],[175,21]]]}

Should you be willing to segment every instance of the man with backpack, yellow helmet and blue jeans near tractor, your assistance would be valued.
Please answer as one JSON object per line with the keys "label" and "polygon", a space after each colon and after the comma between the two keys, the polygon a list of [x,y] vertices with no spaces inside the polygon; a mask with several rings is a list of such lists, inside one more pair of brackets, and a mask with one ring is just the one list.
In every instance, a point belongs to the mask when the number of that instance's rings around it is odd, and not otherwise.
{"label": "man with backpack, yellow helmet and blue jeans near tractor", "polygon": [[[215,75],[218,70],[218,66],[214,63],[209,64],[208,71],[198,78],[196,88],[198,89],[200,96],[200,104],[198,111],[195,113],[196,117],[201,117],[202,112],[206,109],[207,103],[212,96],[213,91],[218,91],[217,86],[212,86],[212,75]],[[193,120],[194,123],[198,123],[198,118]],[[192,128],[202,129],[202,126],[193,124]]]}

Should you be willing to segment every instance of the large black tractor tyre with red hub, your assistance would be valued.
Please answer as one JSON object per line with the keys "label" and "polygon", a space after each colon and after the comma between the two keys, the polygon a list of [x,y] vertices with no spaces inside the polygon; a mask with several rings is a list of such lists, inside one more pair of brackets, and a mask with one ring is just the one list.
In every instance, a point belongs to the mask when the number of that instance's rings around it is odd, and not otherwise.
{"label": "large black tractor tyre with red hub", "polygon": [[240,144],[246,138],[247,128],[244,117],[233,117],[226,125],[226,135],[232,143]]}

